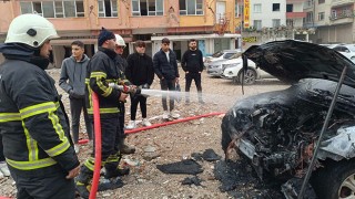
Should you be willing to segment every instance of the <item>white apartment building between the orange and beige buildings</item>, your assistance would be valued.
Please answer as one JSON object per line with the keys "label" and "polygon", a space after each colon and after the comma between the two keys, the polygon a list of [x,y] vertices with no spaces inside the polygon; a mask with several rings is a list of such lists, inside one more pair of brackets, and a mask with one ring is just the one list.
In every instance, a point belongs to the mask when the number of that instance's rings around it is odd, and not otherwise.
{"label": "white apartment building between the orange and beige buildings", "polygon": [[[247,2],[247,3],[245,3]],[[308,41],[308,35],[298,32],[303,28],[304,0],[245,0],[250,10],[250,24],[244,25],[244,41],[264,43],[274,40],[297,39]],[[248,34],[248,35],[247,35]]]}

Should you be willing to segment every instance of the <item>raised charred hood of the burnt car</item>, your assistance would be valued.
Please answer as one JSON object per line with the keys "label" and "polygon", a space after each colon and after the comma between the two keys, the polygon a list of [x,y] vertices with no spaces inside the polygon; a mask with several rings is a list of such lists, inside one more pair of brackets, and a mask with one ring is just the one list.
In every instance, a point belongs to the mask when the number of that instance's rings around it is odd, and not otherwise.
{"label": "raised charred hood of the burnt car", "polygon": [[326,46],[294,40],[253,45],[243,53],[273,76],[287,83],[302,78],[337,82],[347,66],[344,84],[355,87],[355,64]]}

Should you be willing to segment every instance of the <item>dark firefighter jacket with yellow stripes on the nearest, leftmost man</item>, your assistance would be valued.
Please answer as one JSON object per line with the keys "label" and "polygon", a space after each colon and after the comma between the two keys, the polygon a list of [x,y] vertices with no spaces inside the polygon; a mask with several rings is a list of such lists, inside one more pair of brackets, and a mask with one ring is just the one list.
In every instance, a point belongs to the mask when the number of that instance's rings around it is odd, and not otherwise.
{"label": "dark firefighter jacket with yellow stripes on the nearest, leftmost man", "polygon": [[79,166],[60,96],[44,69],[47,59],[27,46],[4,44],[0,52],[0,134],[10,170],[40,177]]}

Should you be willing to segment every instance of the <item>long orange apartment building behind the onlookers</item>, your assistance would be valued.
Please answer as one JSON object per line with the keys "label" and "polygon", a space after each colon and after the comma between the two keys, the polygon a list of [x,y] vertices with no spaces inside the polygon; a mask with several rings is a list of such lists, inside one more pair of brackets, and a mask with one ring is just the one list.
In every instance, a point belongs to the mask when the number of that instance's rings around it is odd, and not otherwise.
{"label": "long orange apartment building behind the onlookers", "polygon": [[168,36],[178,57],[196,39],[204,54],[241,48],[236,33],[241,23],[240,0],[2,0],[0,1],[0,41],[4,41],[11,20],[22,13],[38,13],[57,28],[53,40],[53,65],[60,67],[69,56],[70,43],[81,40],[91,56],[97,36],[104,27],[121,34],[133,52],[136,40],[146,42],[148,54],[160,50]]}

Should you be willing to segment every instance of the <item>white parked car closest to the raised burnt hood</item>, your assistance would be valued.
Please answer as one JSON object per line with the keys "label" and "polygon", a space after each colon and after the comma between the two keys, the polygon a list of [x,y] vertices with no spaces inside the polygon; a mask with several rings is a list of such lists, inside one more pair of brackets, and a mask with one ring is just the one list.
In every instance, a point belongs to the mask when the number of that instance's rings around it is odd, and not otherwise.
{"label": "white parked car closest to the raised burnt hood", "polygon": [[[223,75],[222,77],[232,78],[235,83],[241,83],[243,80],[243,59],[242,56],[222,64]],[[244,73],[244,84],[254,84],[256,80],[261,78],[275,78],[273,75],[256,67],[255,63],[247,60],[247,71]]]}

